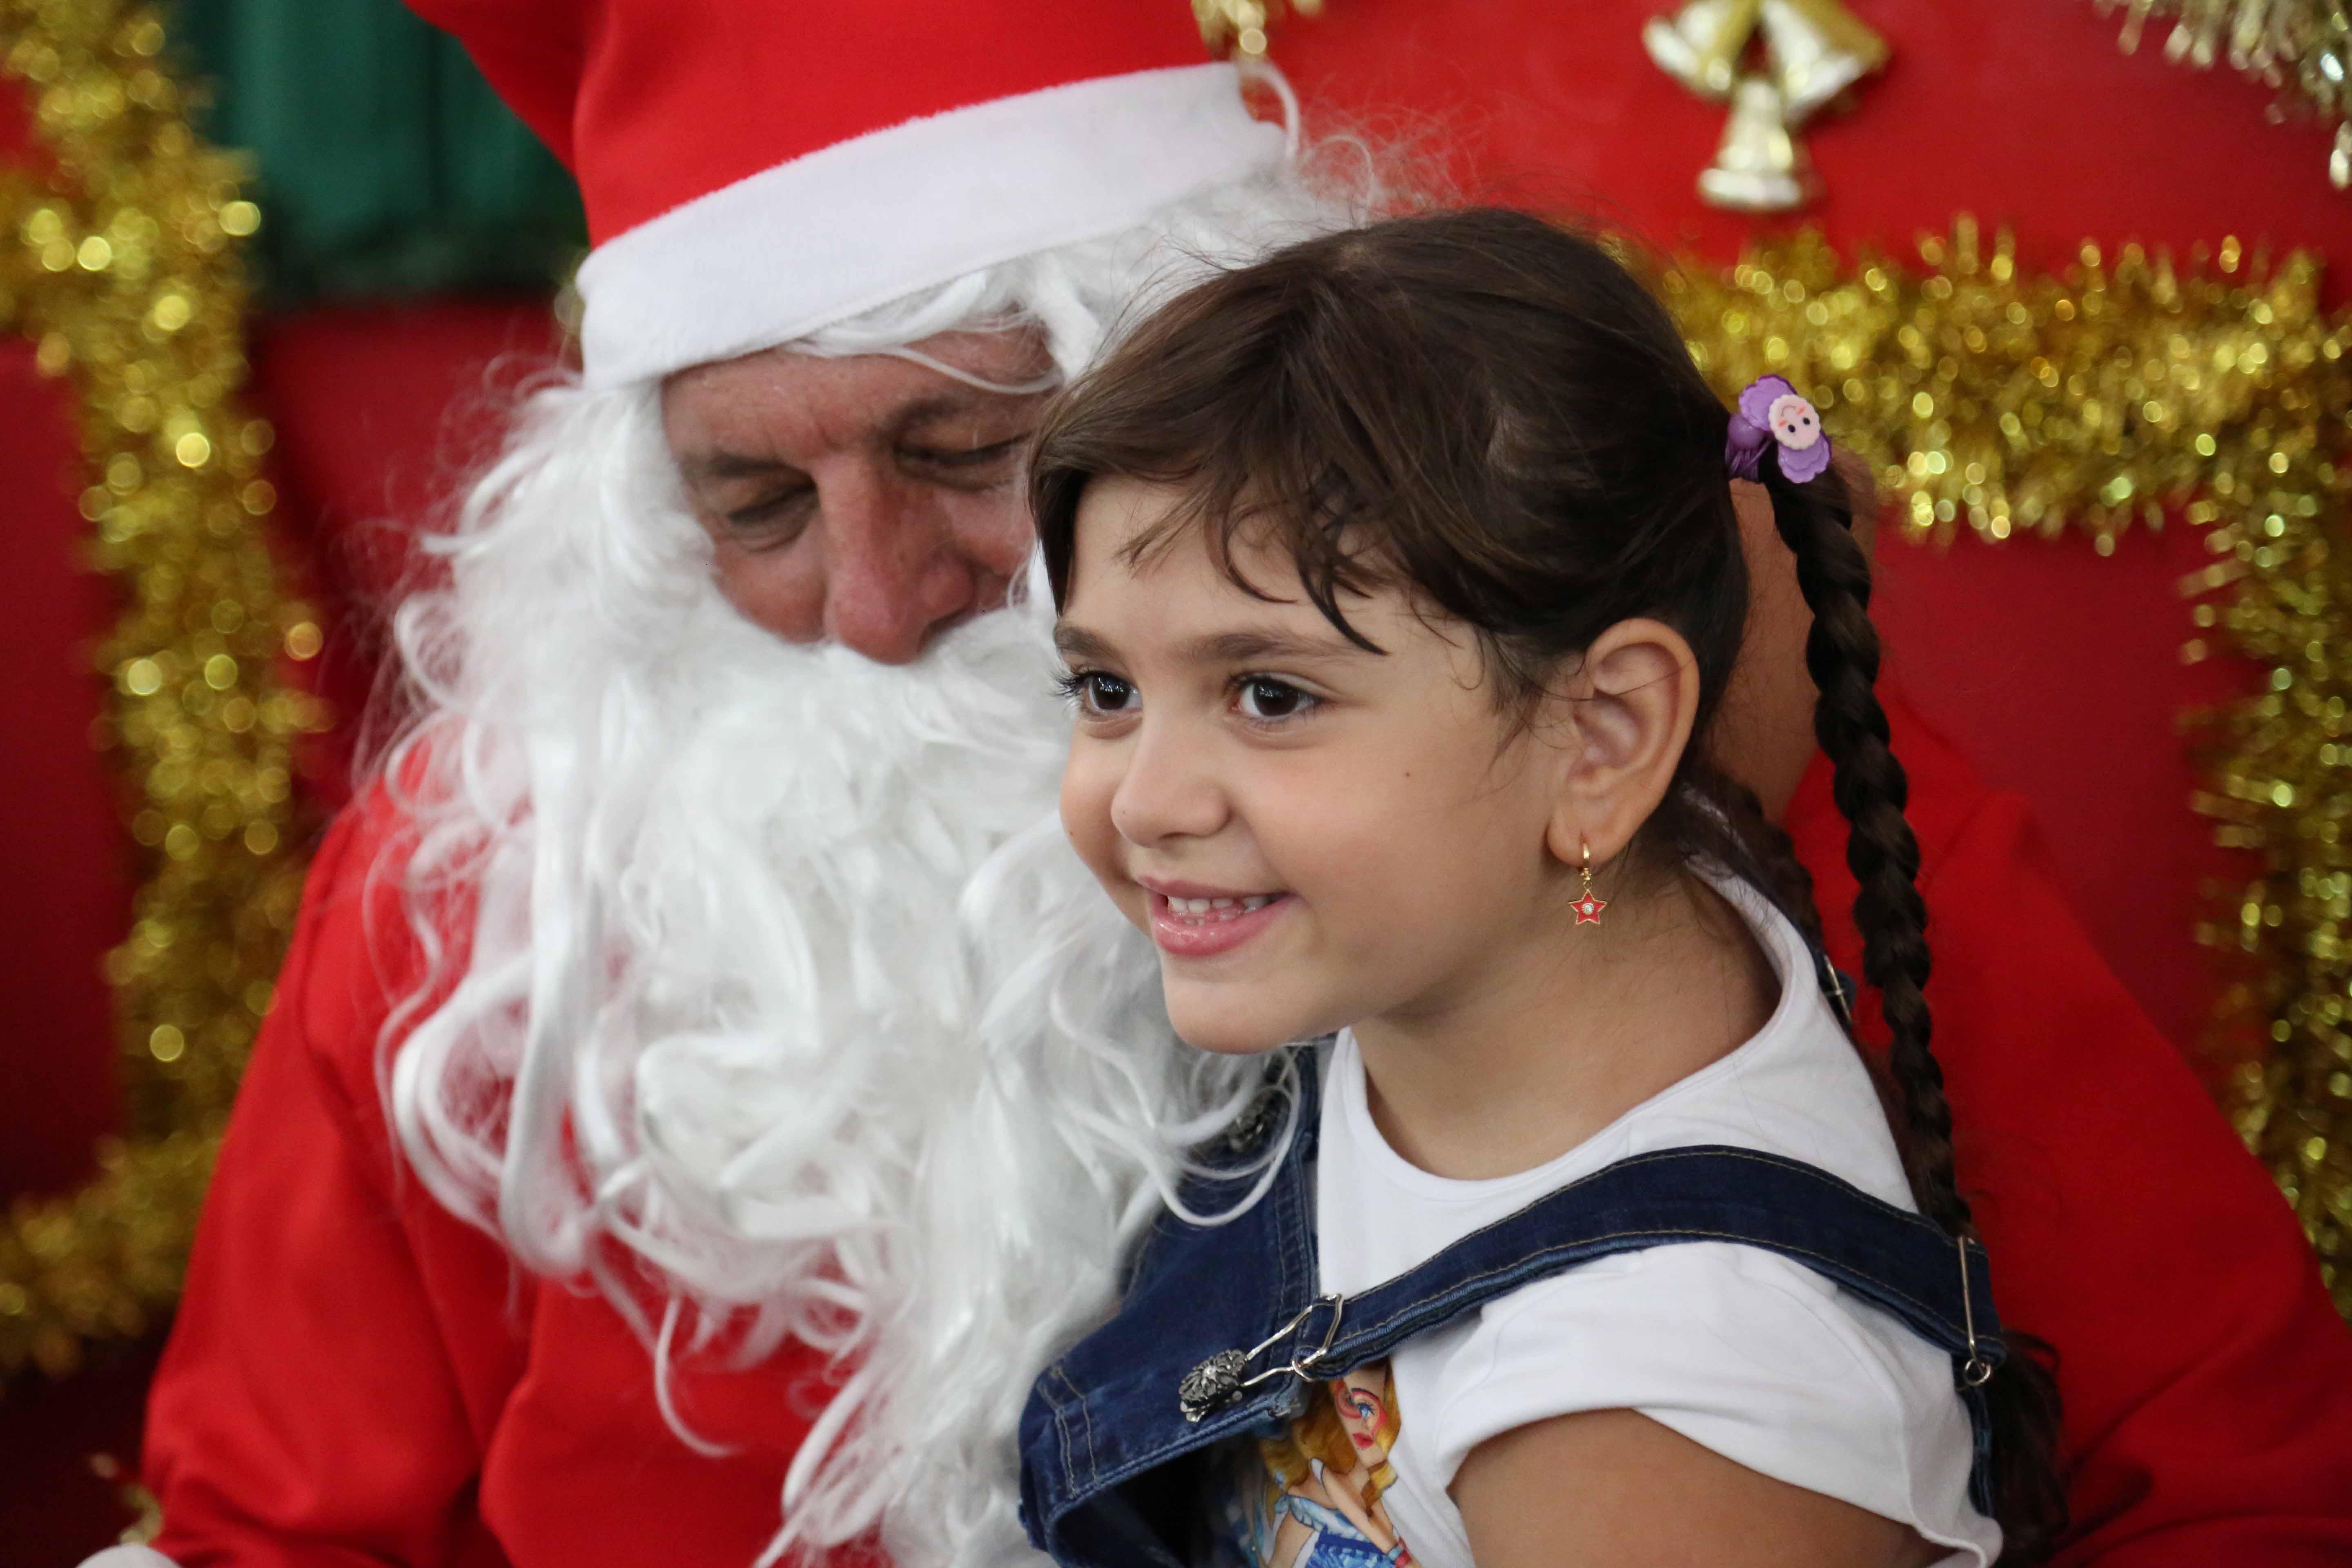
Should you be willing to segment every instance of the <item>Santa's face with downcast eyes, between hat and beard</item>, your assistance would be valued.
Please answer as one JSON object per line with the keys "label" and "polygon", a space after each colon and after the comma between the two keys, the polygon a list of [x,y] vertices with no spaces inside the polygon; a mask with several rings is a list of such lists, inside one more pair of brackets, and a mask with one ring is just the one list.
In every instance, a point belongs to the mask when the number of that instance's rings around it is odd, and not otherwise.
{"label": "Santa's face with downcast eyes, between hat and beard", "polygon": [[[917,350],[993,386],[1051,369],[1018,331]],[[661,421],[739,611],[793,642],[908,663],[1004,604],[1028,559],[1018,475],[1042,402],[896,355],[774,348],[670,376]]]}

